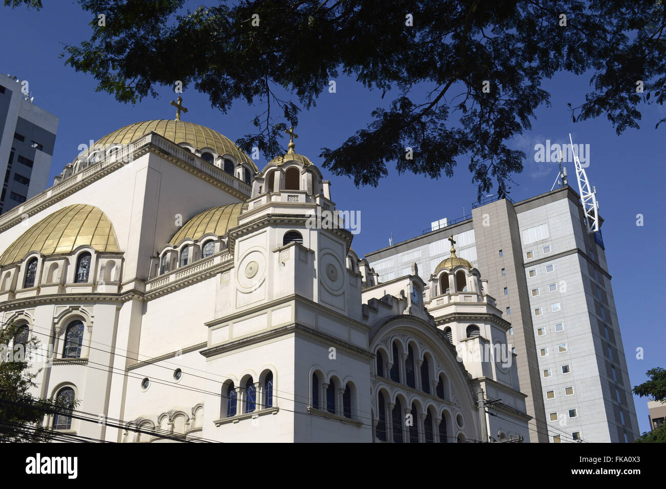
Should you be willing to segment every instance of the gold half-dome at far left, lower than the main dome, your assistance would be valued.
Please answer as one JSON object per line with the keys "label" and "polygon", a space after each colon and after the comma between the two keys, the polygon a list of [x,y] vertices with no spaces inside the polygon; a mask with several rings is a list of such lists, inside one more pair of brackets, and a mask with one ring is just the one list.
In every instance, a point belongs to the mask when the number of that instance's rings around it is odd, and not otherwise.
{"label": "gold half-dome at far left, lower than the main dome", "polygon": [[0,256],[0,264],[21,260],[31,251],[67,254],[82,244],[97,251],[120,251],[113,225],[105,213],[92,205],[68,205],[19,236]]}

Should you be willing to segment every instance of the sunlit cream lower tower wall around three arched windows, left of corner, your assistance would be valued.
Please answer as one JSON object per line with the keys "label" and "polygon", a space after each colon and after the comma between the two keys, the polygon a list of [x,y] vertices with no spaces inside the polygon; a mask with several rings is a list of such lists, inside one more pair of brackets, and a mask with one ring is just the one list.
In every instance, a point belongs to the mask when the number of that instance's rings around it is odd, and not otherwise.
{"label": "sunlit cream lower tower wall around three arched windows, left of corner", "polygon": [[[226,418],[226,399],[221,396],[220,380],[232,380],[237,388],[248,375],[258,382],[266,369],[273,372],[273,408],[258,409],[245,416],[241,393],[238,415]],[[246,344],[208,358],[206,371],[204,438],[220,442],[294,441],[294,405],[298,406],[302,398],[296,396],[298,402],[294,401],[293,334]]]}

